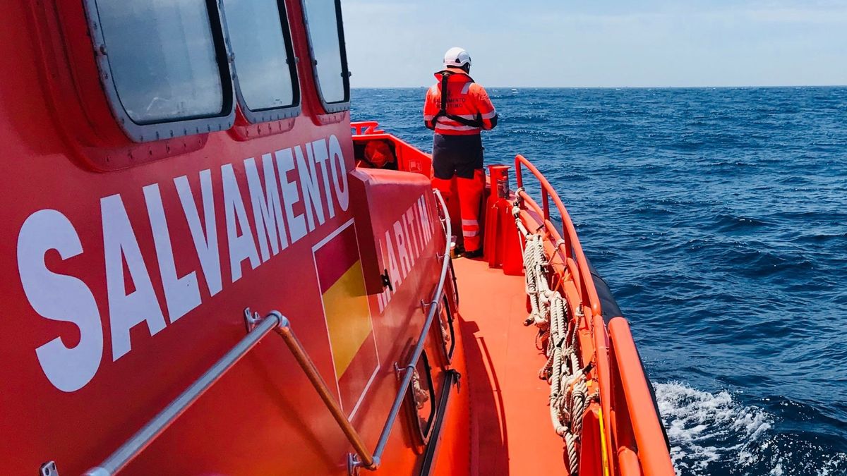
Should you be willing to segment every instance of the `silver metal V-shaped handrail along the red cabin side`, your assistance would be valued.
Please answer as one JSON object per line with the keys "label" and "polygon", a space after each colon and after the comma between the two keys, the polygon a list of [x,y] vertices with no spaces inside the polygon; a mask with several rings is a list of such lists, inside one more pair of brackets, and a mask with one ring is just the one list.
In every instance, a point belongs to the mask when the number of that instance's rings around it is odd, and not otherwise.
{"label": "silver metal V-shaped handrail along the red cabin side", "polygon": [[285,341],[285,345],[288,346],[289,350],[291,350],[291,353],[294,355],[297,363],[312,383],[312,386],[318,391],[318,395],[321,397],[321,400],[324,401],[324,405],[326,405],[327,409],[332,414],[332,417],[335,418],[335,422],[338,423],[341,431],[356,451],[356,456],[351,455],[348,457],[352,468],[358,467],[369,470],[379,468],[379,462],[382,458],[383,452],[385,451],[385,446],[388,443],[388,437],[391,433],[391,429],[394,427],[397,414],[400,412],[403,399],[405,398],[409,385],[412,381],[412,374],[414,373],[414,369],[418,365],[418,360],[424,351],[424,340],[426,340],[426,335],[429,333],[429,328],[435,318],[435,313],[438,309],[438,297],[444,291],[444,282],[446,280],[447,268],[450,263],[450,236],[452,235],[450,214],[447,212],[447,206],[440,192],[435,190],[434,193],[438,198],[441,209],[445,215],[445,218],[442,219],[442,223],[445,224],[446,243],[441,263],[441,274],[438,280],[438,285],[435,286],[433,300],[429,303],[429,313],[427,313],[427,318],[424,321],[424,328],[421,329],[418,344],[415,346],[414,351],[412,351],[412,357],[409,359],[409,363],[405,368],[400,390],[398,390],[394,404],[391,406],[391,411],[388,414],[388,418],[385,420],[385,426],[383,427],[382,433],[379,435],[379,441],[377,442],[377,446],[373,454],[368,452],[361,435],[358,434],[352,423],[350,423],[350,420],[348,420],[346,415],[344,415],[344,412],[342,412],[338,402],[335,401],[335,397],[332,395],[331,390],[329,390],[329,385],[326,385],[324,378],[321,377],[320,372],[318,372],[318,368],[308,356],[308,353],[300,343],[300,340],[297,339],[294,329],[291,329],[291,323],[288,318],[285,318],[285,316],[278,311],[268,313],[268,316],[265,318],[252,318],[249,310],[247,310],[246,319],[249,329],[247,335],[235,344],[230,351],[227,351],[224,354],[224,357],[221,357],[218,362],[214,363],[211,368],[204,372],[200,378],[195,380],[191,386],[185,389],[180,396],[177,396],[174,401],[171,401],[167,407],[164,407],[164,409],[153,417],[150,422],[138,430],[136,434],[133,434],[123,445],[119,446],[119,448],[100,463],[100,465],[86,471],[86,476],[108,476],[125,468],[127,464],[136,459],[136,457],[141,454],[141,451],[144,451],[147,446],[150,446],[152,441],[156,440],[156,438],[162,434],[165,429],[168,429],[169,426],[174,423],[176,418],[179,418],[182,413],[188,410],[188,408],[191,407],[191,405],[197,401],[200,396],[206,393],[206,390],[223,377],[230,368],[233,368],[235,363],[238,363],[241,360],[241,357],[244,357],[248,351],[256,346],[259,341],[272,330],[275,330]]}

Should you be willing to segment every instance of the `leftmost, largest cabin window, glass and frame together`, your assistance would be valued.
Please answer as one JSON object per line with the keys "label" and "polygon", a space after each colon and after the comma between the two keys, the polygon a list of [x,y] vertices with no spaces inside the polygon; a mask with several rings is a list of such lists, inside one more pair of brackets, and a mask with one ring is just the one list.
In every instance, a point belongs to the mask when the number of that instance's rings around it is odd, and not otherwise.
{"label": "leftmost, largest cabin window, glass and frame together", "polygon": [[217,3],[83,3],[109,106],[132,141],[232,125],[232,81]]}

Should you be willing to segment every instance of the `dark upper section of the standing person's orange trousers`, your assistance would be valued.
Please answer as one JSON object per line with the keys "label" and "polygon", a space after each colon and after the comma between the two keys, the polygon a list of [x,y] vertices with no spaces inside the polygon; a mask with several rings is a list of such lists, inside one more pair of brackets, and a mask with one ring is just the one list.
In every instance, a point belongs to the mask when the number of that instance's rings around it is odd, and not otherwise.
{"label": "dark upper section of the standing person's orange trousers", "polygon": [[473,171],[482,169],[482,151],[482,138],[479,134],[435,134],[432,141],[432,169],[435,178],[449,180],[456,174],[462,179],[473,179]]}

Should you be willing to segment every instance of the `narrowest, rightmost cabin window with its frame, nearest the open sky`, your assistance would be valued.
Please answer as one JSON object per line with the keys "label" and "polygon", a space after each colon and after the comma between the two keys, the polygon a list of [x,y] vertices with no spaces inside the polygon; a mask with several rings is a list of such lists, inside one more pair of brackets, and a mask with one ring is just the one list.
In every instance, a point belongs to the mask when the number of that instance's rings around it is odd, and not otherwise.
{"label": "narrowest, rightmost cabin window with its frame, nearest the open sky", "polygon": [[324,108],[337,112],[350,101],[350,75],[338,0],[304,0],[315,79]]}

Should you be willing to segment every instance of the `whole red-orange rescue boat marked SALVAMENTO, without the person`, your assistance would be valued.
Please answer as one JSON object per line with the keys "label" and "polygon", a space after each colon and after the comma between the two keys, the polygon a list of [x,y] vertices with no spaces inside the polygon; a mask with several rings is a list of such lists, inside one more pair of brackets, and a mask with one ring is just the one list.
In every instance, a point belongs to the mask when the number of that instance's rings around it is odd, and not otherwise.
{"label": "whole red-orange rescue boat marked SALVAMENTO, without the person", "polygon": [[673,474],[556,191],[490,165],[453,257],[337,1],[8,2],[0,52],[0,472]]}

